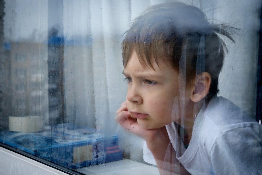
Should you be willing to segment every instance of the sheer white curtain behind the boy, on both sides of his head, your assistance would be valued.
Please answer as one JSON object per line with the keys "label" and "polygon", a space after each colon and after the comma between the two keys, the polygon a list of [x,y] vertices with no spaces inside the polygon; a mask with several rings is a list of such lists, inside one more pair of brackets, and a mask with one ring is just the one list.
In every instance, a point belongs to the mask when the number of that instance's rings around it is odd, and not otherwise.
{"label": "sheer white curtain behind the boy, on both sides of his head", "polygon": [[[65,89],[68,95],[67,113],[75,114],[68,120],[95,126],[106,133],[118,132],[124,153],[140,161],[143,141],[123,132],[114,121],[115,111],[125,100],[127,89],[122,81],[122,34],[132,19],[147,7],[162,2],[167,1],[63,2],[64,36],[75,42],[73,57],[66,54],[72,52],[71,48],[65,47],[65,70],[68,69],[68,73],[65,71],[64,75],[70,76],[66,78],[68,82],[65,80],[65,84],[68,84]],[[225,41],[228,54],[219,79],[219,96],[232,100],[254,116],[260,1],[243,0],[236,4],[226,0],[184,2],[200,7],[211,23],[241,29],[235,35],[236,44]],[[80,50],[76,49],[78,47]],[[74,73],[71,75],[72,70]]]}

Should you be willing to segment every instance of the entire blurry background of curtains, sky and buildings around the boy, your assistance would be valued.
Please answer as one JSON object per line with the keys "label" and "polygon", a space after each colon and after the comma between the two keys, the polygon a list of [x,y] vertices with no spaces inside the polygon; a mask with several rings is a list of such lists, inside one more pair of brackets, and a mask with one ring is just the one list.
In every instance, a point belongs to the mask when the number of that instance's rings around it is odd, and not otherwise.
{"label": "entire blurry background of curtains, sky and buildings around the boy", "polygon": [[[147,7],[162,2],[168,1],[1,1],[1,129],[10,115],[41,115],[46,125],[117,132],[125,156],[141,161],[142,140],[114,121],[127,91],[122,34]],[[211,23],[241,29],[236,44],[226,41],[219,95],[255,117],[260,0],[183,2],[202,9]]]}

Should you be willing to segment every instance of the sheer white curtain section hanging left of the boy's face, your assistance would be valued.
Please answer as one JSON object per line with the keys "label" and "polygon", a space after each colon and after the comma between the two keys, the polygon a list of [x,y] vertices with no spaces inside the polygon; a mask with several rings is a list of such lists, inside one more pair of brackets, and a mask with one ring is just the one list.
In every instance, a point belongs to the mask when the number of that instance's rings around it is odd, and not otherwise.
{"label": "sheer white curtain section hanging left of the boy's face", "polygon": [[67,113],[77,113],[77,124],[112,128],[125,99],[121,40],[130,21],[129,2],[64,1],[63,7],[65,45],[73,42],[64,54]]}

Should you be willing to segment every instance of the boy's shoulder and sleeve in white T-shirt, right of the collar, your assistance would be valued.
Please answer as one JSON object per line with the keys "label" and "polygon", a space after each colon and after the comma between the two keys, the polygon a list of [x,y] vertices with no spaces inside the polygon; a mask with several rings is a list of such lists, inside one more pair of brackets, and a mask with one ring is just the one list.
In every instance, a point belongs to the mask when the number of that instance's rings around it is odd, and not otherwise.
{"label": "boy's shoulder and sleeve in white T-shirt, right of the collar", "polygon": [[228,99],[211,99],[199,125],[198,144],[215,173],[261,173],[262,125]]}

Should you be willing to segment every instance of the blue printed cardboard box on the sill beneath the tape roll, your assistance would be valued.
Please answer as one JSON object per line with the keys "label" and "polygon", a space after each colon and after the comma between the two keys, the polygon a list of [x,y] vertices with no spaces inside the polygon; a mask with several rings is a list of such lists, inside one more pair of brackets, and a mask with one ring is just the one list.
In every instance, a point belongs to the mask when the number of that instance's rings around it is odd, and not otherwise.
{"label": "blue printed cardboard box on the sill beneath the tape roll", "polygon": [[42,132],[4,130],[0,142],[73,169],[123,158],[117,135],[74,125],[45,126]]}

